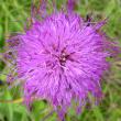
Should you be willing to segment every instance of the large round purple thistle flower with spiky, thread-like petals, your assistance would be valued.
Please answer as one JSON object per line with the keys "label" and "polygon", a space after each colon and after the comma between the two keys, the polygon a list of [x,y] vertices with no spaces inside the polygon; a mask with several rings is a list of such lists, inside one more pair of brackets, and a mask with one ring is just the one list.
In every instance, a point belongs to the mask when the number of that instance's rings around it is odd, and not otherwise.
{"label": "large round purple thistle flower with spiky, thread-like petals", "polygon": [[73,2],[68,0],[67,12],[56,11],[43,20],[32,18],[31,28],[14,36],[16,41],[9,41],[25,100],[45,99],[61,118],[72,101],[81,109],[89,94],[96,101],[102,97],[100,80],[109,68],[107,58],[118,48],[100,31],[106,21],[85,22],[73,11]]}

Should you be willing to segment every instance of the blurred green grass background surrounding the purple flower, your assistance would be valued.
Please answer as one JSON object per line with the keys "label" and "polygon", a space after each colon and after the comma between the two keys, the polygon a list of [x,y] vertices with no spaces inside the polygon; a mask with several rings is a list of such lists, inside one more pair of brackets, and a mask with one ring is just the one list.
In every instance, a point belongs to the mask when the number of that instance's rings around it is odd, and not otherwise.
{"label": "blurred green grass background surrounding the purple flower", "polygon": [[[38,1],[38,0],[36,0]],[[57,7],[65,0],[57,0]],[[26,18],[30,16],[31,0],[0,0],[0,52],[3,52],[4,40],[14,32],[22,32]],[[95,21],[109,18],[103,31],[121,42],[121,0],[80,0],[76,11],[86,18],[92,14]],[[0,55],[1,57],[1,55]],[[103,78],[102,91],[105,97],[101,103],[92,109],[85,109],[80,116],[68,113],[66,121],[121,121],[121,61],[112,64],[108,78]],[[20,101],[20,87],[9,88],[6,85],[6,67],[0,58],[0,121],[44,121],[50,113],[45,101],[36,101],[31,112]],[[20,100],[16,100],[20,99]],[[3,101],[4,100],[4,101]],[[6,101],[6,100],[16,100]],[[57,121],[52,114],[46,121]]]}

